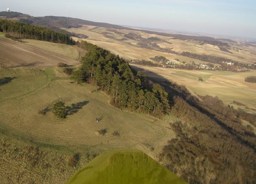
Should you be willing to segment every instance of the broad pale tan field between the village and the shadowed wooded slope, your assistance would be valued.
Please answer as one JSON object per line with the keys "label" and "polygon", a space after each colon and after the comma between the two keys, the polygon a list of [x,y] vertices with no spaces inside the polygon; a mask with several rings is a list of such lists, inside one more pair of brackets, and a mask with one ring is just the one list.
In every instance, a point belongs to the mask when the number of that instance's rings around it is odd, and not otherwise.
{"label": "broad pale tan field between the village and the shadowed wooded slope", "polygon": [[[141,68],[137,70],[141,70],[148,76],[161,76],[179,85],[184,85],[192,95],[218,96],[226,105],[232,105],[235,109],[241,108],[249,113],[256,112],[253,110],[256,109],[256,85],[245,82],[246,77],[256,75],[256,70],[238,73],[212,70],[178,70],[174,68],[148,67],[135,64],[130,64],[130,66]],[[199,82],[199,77],[203,78],[203,82]],[[241,102],[247,107],[234,105],[232,103],[233,100]]]}

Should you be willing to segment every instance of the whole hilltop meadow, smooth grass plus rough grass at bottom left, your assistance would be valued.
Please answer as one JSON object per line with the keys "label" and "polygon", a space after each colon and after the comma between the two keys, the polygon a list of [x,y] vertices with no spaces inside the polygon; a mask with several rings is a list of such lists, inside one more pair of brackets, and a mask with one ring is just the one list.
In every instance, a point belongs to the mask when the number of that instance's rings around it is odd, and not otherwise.
{"label": "whole hilltop meadow, smooth grass plus rough grass at bottom left", "polygon": [[[70,83],[64,75],[57,77],[56,71],[61,70],[0,68],[0,178],[4,183],[64,183],[96,155],[111,149],[140,149],[156,159],[175,137],[169,120],[112,107],[108,96],[94,86]],[[65,119],[51,112],[60,99],[67,109]],[[40,109],[46,114],[38,114]],[[75,153],[80,161],[71,167],[68,162]]]}

